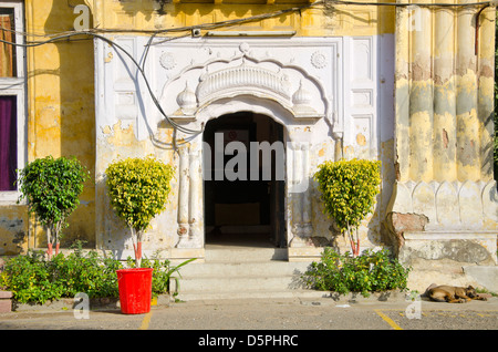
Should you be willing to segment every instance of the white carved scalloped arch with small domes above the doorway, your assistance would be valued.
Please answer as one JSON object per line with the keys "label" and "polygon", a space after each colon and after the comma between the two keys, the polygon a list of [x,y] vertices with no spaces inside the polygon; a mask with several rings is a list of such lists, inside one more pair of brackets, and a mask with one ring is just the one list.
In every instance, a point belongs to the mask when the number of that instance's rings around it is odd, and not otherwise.
{"label": "white carved scalloped arch with small domes above the doorway", "polygon": [[292,59],[284,64],[268,53],[257,58],[247,43],[231,56],[218,53],[205,62],[193,60],[165,83],[160,102],[169,107],[172,120],[190,122],[210,104],[242,95],[271,100],[297,121],[325,117],[330,125],[338,125],[332,99],[320,79]]}

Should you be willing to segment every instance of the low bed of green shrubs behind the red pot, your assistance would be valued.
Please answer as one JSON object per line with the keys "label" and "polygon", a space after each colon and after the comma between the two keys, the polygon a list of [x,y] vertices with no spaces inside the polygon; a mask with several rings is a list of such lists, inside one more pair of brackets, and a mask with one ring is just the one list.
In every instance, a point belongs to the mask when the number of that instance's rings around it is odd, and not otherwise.
{"label": "low bed of green shrubs behind the red pot", "polygon": [[[153,296],[168,293],[172,275],[193,260],[188,259],[175,267],[167,259],[144,259],[142,268],[154,268]],[[128,265],[134,267],[132,258],[128,258]],[[0,289],[12,291],[14,300],[20,303],[43,304],[61,298],[73,298],[79,292],[90,298],[118,298],[116,270],[123,267],[120,260],[102,257],[96,251],[84,253],[81,242],[66,257],[59,253],[46,259],[41,251],[29,251],[25,256],[12,257],[6,262],[0,273]]]}

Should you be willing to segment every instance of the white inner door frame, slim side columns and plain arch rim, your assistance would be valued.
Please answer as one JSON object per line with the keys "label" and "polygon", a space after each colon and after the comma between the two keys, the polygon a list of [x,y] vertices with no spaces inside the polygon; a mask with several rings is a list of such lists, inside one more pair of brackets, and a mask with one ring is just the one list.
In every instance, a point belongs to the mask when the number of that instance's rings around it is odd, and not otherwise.
{"label": "white inner door frame, slim side columns and plain arch rim", "polygon": [[[205,108],[198,110],[195,124],[204,126],[212,118],[242,111],[266,115],[283,126],[286,144],[286,241],[289,250],[290,247],[298,248],[297,256],[299,257],[299,248],[309,247],[308,242],[313,235],[313,227],[311,187],[305,187],[302,191],[299,190],[299,187],[295,187],[302,180],[308,182],[310,177],[310,145],[312,145],[310,138],[312,133],[309,132],[309,126],[315,120],[307,118],[302,121],[295,118],[289,110],[273,100],[242,95],[231,99],[222,97],[211,102]],[[178,137],[183,136],[179,135]],[[203,134],[196,135],[189,139],[189,143],[180,147],[179,155],[178,242],[175,248],[190,250],[197,248],[201,249],[204,255]],[[188,186],[183,187],[183,180],[187,180]]]}

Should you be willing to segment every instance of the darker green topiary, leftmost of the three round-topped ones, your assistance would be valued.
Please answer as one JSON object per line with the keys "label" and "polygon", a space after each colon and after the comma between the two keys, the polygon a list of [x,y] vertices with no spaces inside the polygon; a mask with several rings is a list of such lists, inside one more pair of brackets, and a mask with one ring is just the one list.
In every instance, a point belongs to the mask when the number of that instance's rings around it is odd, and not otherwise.
{"label": "darker green topiary, leftmost of the three round-topped ones", "polygon": [[53,247],[55,255],[59,253],[61,230],[68,226],[68,216],[80,205],[79,197],[90,175],[74,157],[54,159],[52,156],[35,159],[19,175],[19,201],[25,198],[29,211],[45,227],[50,258]]}

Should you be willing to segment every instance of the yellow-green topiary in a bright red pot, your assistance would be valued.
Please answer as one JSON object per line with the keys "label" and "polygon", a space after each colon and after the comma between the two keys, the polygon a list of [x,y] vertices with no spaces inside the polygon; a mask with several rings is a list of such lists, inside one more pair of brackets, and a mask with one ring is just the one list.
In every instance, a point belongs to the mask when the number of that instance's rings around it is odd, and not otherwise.
{"label": "yellow-green topiary in a bright red pot", "polygon": [[132,234],[135,268],[117,270],[123,313],[151,310],[152,268],[142,268],[142,238],[151,220],[166,208],[174,167],[152,156],[126,158],[108,165],[108,197],[116,215]]}

